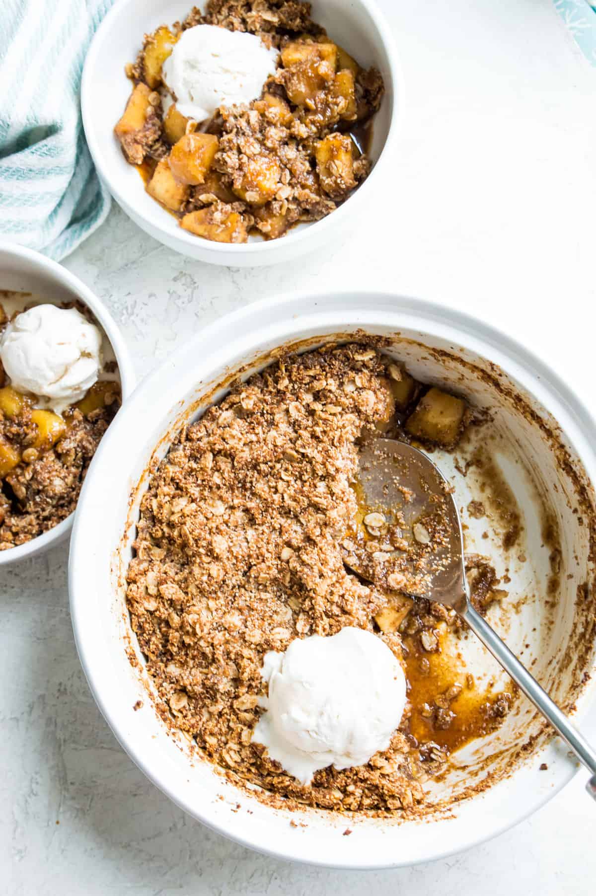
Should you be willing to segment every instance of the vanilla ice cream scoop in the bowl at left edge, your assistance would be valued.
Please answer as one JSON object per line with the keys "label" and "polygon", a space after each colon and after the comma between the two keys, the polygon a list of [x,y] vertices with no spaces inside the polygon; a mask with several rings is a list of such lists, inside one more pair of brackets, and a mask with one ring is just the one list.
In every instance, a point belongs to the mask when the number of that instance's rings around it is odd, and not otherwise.
{"label": "vanilla ice cream scoop in the bowl at left edge", "polygon": [[37,305],[17,314],[0,339],[0,359],[17,392],[56,413],[80,401],[99,374],[101,333],[76,308]]}

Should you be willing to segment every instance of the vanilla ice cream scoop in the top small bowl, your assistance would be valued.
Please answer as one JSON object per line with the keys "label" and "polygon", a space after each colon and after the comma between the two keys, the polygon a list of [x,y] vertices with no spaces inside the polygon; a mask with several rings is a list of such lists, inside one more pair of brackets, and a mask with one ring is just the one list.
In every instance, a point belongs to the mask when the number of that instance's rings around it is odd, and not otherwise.
{"label": "vanilla ice cream scoop in the top small bowl", "polygon": [[257,99],[277,56],[255,34],[194,25],[182,32],[161,73],[178,112],[204,121],[220,106]]}

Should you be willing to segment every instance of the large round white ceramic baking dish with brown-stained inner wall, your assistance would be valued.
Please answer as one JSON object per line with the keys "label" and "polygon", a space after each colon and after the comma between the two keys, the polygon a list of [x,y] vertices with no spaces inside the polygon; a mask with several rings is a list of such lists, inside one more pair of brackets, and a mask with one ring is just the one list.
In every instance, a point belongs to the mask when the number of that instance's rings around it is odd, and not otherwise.
{"label": "large round white ceramic baking dish with brown-stained inner wall", "polygon": [[[191,761],[184,738],[168,734],[151,701],[151,681],[143,671],[125,608],[125,571],[148,465],[167,452],[181,422],[217,400],[225,392],[221,383],[237,371],[245,376],[262,368],[280,347],[345,339],[358,331],[387,337],[386,350],[404,359],[413,375],[451,385],[492,409],[494,426],[515,454],[509,479],[525,513],[531,559],[529,583],[512,566],[507,586],[511,599],[504,601],[504,606],[511,605],[510,612],[497,618],[497,625],[553,697],[562,704],[573,702],[574,719],[583,719],[596,689],[592,585],[589,601],[578,597],[580,580],[589,574],[592,582],[593,577],[588,540],[594,534],[590,480],[596,481],[596,425],[565,383],[514,340],[467,315],[429,303],[374,293],[265,301],[220,319],[178,349],[126,402],[99,445],[74,524],[69,587],[74,634],[99,708],[125,750],[158,787],[195,818],[246,846],[298,861],[361,869],[409,865],[485,840],[552,797],[571,779],[576,764],[560,742],[546,742],[540,720],[520,699],[497,734],[483,738],[468,757],[455,754],[457,767],[430,789],[435,805],[442,797],[461,796],[466,784],[479,784],[487,771],[494,772],[496,783],[453,802],[450,811],[436,809],[421,821],[400,823],[273,809],[233,786],[210,763]],[[563,533],[552,625],[546,624],[541,592],[551,572],[549,548],[541,543],[529,480],[516,466],[518,461],[531,470],[532,481],[544,487]],[[578,487],[583,495],[581,522],[574,513]],[[525,593],[532,584],[536,599],[520,605],[514,590]],[[584,627],[589,643],[581,650]],[[127,656],[131,649],[135,668]],[[475,650],[475,645],[470,643],[468,649]],[[592,672],[592,682],[581,685],[584,672]],[[139,700],[142,709],[133,711]],[[528,746],[521,755],[523,745]],[[540,771],[542,762],[548,771]],[[290,821],[305,826],[290,826]],[[343,837],[348,825],[352,834]]]}

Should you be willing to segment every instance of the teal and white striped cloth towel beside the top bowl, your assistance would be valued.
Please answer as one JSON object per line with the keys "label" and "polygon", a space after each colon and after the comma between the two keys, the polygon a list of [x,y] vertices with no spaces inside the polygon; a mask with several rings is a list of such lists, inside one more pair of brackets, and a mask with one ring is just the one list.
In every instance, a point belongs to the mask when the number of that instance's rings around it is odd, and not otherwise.
{"label": "teal and white striped cloth towel beside the top bowl", "polygon": [[51,258],[72,252],[109,211],[79,90],[85,52],[113,3],[0,3],[0,238]]}

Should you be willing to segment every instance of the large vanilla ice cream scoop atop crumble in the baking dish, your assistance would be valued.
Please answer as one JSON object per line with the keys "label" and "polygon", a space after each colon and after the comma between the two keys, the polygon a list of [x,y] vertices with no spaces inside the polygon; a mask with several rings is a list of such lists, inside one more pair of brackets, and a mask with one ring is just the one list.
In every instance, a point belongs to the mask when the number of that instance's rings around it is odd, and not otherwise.
{"label": "large vanilla ice cream scoop atop crumble in the baking dish", "polygon": [[269,696],[253,740],[308,784],[315,771],[363,765],[389,746],[406,705],[406,679],[375,634],[342,628],[265,654]]}

